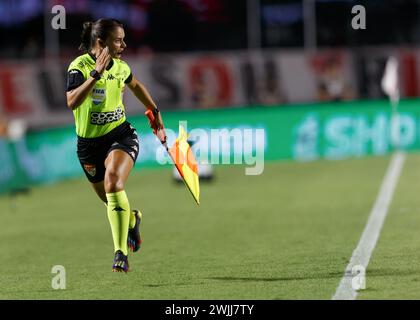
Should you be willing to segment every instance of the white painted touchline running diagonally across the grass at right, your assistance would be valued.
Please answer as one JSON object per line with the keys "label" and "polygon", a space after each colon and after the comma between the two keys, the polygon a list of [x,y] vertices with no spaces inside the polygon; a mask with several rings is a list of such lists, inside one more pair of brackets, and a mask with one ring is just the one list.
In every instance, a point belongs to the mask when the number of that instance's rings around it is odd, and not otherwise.
{"label": "white painted touchline running diagonally across the grass at right", "polygon": [[[361,269],[366,270],[369,264],[370,256],[373,249],[375,249],[382,225],[388,213],[388,207],[391,203],[395,186],[397,185],[398,178],[402,171],[404,160],[405,154],[402,152],[396,152],[392,155],[378,197],[370,212],[369,220],[363,230],[359,244],[353,251],[350,262],[344,271],[344,276],[341,279],[332,300],[354,300],[357,297],[357,290],[355,289],[358,288],[357,286],[356,288],[353,288],[353,279],[356,276],[360,276],[360,274],[356,275],[354,271]],[[364,272],[362,276],[364,276]]]}

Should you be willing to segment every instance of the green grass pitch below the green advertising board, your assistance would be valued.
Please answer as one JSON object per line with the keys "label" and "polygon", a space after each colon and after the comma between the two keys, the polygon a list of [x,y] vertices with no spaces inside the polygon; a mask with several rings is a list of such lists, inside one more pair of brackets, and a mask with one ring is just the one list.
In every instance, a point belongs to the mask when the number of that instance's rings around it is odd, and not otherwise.
{"label": "green grass pitch below the green advertising board", "polygon": [[[131,272],[111,272],[104,205],[83,179],[0,198],[0,299],[331,299],[389,157],[218,166],[197,206],[170,170],[133,172]],[[407,156],[358,299],[420,298],[420,156]],[[54,290],[54,265],[66,289]]]}

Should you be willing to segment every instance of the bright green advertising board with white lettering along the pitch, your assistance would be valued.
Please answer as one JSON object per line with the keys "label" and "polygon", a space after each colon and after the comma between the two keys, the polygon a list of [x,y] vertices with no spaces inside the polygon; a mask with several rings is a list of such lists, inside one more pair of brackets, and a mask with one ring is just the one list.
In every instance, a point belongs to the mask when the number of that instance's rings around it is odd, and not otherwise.
{"label": "bright green advertising board with white lettering along the pitch", "polygon": [[[258,153],[263,161],[338,160],[387,154],[394,148],[396,132],[402,149],[420,150],[419,104],[418,100],[401,102],[399,127],[392,126],[386,100],[168,111],[164,119],[170,145],[178,135],[179,121],[186,121],[199,162],[234,165],[247,163]],[[146,118],[129,116],[128,120],[140,136],[136,169],[168,166]],[[0,192],[83,175],[73,126],[30,132],[13,143],[0,140],[0,163]]]}

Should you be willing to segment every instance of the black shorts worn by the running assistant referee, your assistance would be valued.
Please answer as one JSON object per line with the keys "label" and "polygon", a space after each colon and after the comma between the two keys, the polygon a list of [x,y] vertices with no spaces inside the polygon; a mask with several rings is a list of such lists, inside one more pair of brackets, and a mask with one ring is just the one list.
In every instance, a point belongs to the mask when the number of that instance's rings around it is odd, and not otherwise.
{"label": "black shorts worn by the running assistant referee", "polygon": [[77,138],[77,156],[86,177],[92,183],[105,178],[105,159],[112,150],[123,150],[136,163],[139,155],[139,140],[136,130],[124,122],[99,138]]}

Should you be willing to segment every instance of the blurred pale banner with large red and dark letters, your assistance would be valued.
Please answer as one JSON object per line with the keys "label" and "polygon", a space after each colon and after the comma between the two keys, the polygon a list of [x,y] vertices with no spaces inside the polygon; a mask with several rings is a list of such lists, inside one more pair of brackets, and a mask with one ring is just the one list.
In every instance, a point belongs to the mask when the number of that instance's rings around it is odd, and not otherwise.
{"label": "blurred pale banner with large red and dark letters", "polygon": [[[390,55],[400,61],[402,97],[419,96],[420,52],[414,48],[143,54],[126,60],[162,110],[201,110],[382,98],[380,79]],[[71,124],[65,97],[70,60],[1,61],[0,114],[25,118],[31,128]],[[142,113],[131,93],[124,99],[129,115]]]}

